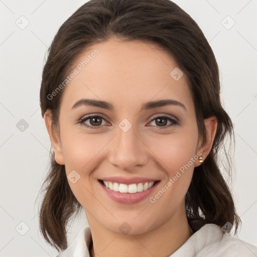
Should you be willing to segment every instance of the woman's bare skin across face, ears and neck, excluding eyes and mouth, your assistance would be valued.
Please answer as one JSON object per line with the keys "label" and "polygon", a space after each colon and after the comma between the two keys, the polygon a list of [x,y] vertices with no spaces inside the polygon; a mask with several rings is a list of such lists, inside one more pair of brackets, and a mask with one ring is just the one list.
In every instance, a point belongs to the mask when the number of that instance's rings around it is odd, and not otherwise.
{"label": "woman's bare skin across face, ears and neck, excluding eyes and mouth", "polygon": [[[73,170],[80,175],[75,184],[68,182],[91,228],[92,256],[169,256],[192,235],[184,197],[194,167],[201,165],[199,160],[155,203],[149,197],[131,205],[114,202],[97,179],[118,175],[160,180],[151,194],[154,196],[191,157],[201,152],[203,160],[206,158],[217,119],[212,116],[204,120],[207,138],[201,142],[189,80],[185,72],[178,81],[170,76],[179,66],[160,46],[112,38],[84,51],[75,63],[95,48],[99,50],[96,57],[64,89],[59,133],[52,126],[51,112],[45,114],[56,161],[65,165],[67,175]],[[81,98],[100,99],[113,104],[114,109],[87,105],[71,109]],[[183,103],[186,110],[166,105],[140,111],[147,101],[168,98]],[[78,123],[88,114],[105,118],[100,120],[99,129],[87,129]],[[162,129],[153,117],[164,114],[176,118],[178,124],[165,119],[168,123]],[[127,132],[118,126],[124,118],[132,124]],[[90,119],[85,122],[93,126]],[[123,222],[131,227],[127,234],[119,229]]]}

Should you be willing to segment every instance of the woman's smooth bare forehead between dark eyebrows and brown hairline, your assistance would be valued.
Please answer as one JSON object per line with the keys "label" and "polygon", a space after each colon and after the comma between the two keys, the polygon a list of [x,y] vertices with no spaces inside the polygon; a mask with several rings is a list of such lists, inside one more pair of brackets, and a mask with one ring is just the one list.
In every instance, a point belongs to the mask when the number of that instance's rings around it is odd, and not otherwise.
{"label": "woman's smooth bare forehead between dark eyebrows and brown hairline", "polygon": [[119,40],[94,44],[76,58],[71,72],[76,75],[63,95],[70,107],[83,97],[133,106],[172,98],[192,107],[186,74],[157,44]]}

